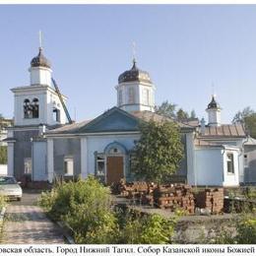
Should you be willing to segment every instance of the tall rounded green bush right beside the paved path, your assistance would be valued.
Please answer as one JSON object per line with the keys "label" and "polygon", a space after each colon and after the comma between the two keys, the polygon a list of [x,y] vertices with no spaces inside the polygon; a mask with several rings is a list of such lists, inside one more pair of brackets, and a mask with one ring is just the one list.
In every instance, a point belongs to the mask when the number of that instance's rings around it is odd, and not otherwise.
{"label": "tall rounded green bush right beside the paved path", "polygon": [[40,205],[56,221],[64,221],[77,243],[112,243],[116,218],[110,208],[110,192],[94,177],[64,182],[43,193]]}

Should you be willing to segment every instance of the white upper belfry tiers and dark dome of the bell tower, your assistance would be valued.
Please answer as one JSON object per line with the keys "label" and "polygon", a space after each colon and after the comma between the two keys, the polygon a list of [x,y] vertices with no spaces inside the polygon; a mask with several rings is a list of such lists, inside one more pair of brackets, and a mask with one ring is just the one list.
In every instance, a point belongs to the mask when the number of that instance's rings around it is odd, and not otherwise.
{"label": "white upper belfry tiers and dark dome of the bell tower", "polygon": [[[51,64],[44,57],[42,47],[32,58],[30,86],[14,88],[15,96],[14,125],[15,126],[46,126],[65,124],[66,114],[51,83]],[[64,102],[67,97],[62,96]]]}

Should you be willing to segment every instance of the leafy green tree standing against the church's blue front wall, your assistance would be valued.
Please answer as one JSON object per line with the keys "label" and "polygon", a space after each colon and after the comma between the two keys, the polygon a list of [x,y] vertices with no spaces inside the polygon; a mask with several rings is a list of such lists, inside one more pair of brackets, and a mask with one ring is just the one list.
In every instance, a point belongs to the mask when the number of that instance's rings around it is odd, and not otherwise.
{"label": "leafy green tree standing against the church's blue front wall", "polygon": [[180,130],[174,122],[140,125],[141,138],[135,145],[132,171],[150,182],[163,182],[175,173],[183,158]]}

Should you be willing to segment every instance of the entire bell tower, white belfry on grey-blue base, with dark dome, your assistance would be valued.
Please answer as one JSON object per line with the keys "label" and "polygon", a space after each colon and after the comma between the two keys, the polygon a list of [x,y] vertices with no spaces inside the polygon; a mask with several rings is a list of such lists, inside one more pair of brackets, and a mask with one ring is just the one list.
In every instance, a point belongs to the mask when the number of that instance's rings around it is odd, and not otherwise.
{"label": "entire bell tower, white belfry on grey-blue base, with dark dome", "polygon": [[[18,180],[47,180],[47,142],[42,133],[66,123],[60,97],[51,83],[51,64],[40,45],[29,68],[30,84],[13,88],[14,126],[8,129],[8,174]],[[67,97],[62,96],[65,103]],[[34,157],[36,156],[36,157]]]}

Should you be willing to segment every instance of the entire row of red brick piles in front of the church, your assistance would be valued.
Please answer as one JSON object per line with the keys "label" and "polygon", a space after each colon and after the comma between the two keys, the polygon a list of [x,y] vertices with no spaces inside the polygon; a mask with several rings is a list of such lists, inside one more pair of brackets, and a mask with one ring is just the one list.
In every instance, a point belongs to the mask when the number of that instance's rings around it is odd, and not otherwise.
{"label": "entire row of red brick piles in front of the church", "polygon": [[174,211],[177,208],[189,214],[195,208],[206,209],[211,214],[224,211],[224,188],[207,188],[198,193],[186,184],[168,184],[157,186],[143,181],[120,182],[118,193],[134,203],[159,207]]}

